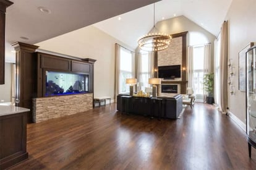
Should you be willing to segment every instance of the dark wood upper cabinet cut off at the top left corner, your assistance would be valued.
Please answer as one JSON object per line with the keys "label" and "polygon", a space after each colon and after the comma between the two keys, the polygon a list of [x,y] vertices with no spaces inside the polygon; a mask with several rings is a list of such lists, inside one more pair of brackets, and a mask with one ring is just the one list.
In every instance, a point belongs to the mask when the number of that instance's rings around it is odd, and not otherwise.
{"label": "dark wood upper cabinet cut off at the top left corner", "polygon": [[4,64],[5,64],[5,43],[6,43],[6,8],[13,2],[0,0],[0,85],[4,84]]}

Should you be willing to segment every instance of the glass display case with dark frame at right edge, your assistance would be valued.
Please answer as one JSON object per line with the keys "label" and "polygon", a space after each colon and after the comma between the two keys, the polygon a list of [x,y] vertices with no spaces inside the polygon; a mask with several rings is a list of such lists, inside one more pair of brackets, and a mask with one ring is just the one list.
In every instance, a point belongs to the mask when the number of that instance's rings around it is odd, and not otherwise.
{"label": "glass display case with dark frame at right edge", "polygon": [[246,53],[246,133],[249,157],[256,148],[256,46]]}

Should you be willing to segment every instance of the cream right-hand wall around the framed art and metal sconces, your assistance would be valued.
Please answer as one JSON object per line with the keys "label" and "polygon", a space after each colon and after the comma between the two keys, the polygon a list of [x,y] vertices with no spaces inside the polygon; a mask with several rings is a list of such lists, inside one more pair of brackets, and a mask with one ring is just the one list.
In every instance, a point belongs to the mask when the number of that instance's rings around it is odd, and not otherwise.
{"label": "cream right-hand wall around the framed art and metal sconces", "polygon": [[238,53],[250,42],[256,41],[256,8],[255,1],[233,0],[229,7],[228,20],[228,57],[233,59],[235,73],[233,84],[236,94],[228,95],[228,106],[231,113],[245,123],[245,92],[238,90]]}

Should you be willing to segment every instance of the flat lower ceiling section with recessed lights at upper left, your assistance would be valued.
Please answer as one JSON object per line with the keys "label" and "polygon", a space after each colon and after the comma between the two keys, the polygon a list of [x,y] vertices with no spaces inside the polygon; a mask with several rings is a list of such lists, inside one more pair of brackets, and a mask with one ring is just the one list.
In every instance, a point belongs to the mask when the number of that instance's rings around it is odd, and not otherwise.
{"label": "flat lower ceiling section with recessed lights at upper left", "polygon": [[[6,12],[6,61],[10,43],[35,44],[160,0],[11,0]],[[46,7],[50,14],[38,7]],[[24,40],[20,37],[26,37]]]}

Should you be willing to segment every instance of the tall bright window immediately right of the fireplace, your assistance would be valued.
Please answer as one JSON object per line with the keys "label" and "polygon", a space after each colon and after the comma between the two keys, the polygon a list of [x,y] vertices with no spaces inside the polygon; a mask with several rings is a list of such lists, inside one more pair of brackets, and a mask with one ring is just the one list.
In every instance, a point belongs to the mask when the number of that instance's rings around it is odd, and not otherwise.
{"label": "tall bright window immediately right of the fireplace", "polygon": [[203,100],[203,62],[204,62],[204,48],[203,46],[194,47],[193,50],[193,82],[194,93],[197,95],[198,100]]}

